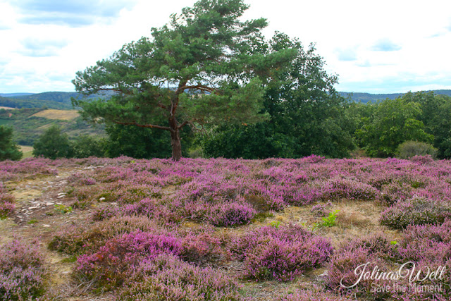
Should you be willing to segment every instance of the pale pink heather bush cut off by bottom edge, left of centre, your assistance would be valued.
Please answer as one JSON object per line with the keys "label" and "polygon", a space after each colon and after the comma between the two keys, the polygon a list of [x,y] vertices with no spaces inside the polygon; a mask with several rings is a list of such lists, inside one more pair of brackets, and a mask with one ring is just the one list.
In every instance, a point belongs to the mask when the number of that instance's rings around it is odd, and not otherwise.
{"label": "pale pink heather bush cut off by bottom edge, left of centre", "polygon": [[143,262],[125,283],[118,300],[237,301],[240,286],[211,268],[200,268],[162,254]]}

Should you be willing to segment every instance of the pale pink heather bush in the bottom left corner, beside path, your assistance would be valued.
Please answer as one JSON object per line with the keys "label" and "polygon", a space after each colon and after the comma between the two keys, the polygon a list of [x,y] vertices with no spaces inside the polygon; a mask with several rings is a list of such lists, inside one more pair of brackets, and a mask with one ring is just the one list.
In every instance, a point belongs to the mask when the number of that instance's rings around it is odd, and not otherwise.
{"label": "pale pink heather bush in the bottom left corner, beside path", "polygon": [[37,242],[17,238],[0,247],[0,300],[37,300],[45,292],[46,271]]}

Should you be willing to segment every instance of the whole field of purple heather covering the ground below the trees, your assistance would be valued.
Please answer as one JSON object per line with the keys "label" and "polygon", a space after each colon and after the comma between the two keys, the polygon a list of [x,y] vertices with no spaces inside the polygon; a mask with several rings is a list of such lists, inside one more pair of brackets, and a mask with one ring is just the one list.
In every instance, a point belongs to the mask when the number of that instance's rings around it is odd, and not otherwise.
{"label": "whole field of purple heather covering the ground below the trees", "polygon": [[38,158],[0,181],[0,300],[451,299],[451,161]]}

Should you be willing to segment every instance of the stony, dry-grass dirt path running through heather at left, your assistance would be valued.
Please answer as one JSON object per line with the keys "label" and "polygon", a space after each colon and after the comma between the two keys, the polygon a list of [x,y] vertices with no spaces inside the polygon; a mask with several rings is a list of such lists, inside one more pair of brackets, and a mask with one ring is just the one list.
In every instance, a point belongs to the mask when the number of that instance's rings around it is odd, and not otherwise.
{"label": "stony, dry-grass dirt path running through heather at left", "polygon": [[[68,178],[73,173],[92,167],[63,166],[57,176],[6,183],[16,198],[16,210],[11,218],[0,221],[0,243],[18,238],[27,242],[37,240],[47,261],[52,300],[109,300],[84,293],[71,279],[73,258],[48,249],[49,242],[69,225],[87,221],[89,210],[73,209],[75,197],[68,197]],[[64,212],[66,211],[66,212]],[[78,295],[78,297],[70,297]]]}

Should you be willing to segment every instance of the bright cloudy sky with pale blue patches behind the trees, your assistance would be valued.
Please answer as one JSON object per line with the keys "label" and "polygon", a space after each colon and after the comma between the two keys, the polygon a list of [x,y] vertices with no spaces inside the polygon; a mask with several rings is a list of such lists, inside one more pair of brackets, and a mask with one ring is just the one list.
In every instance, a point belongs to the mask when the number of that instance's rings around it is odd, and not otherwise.
{"label": "bright cloudy sky with pale blue patches behind the trees", "polygon": [[[185,0],[0,0],[0,93],[73,91],[75,72],[149,36]],[[347,92],[451,89],[451,3],[247,0],[245,18],[316,44]]]}

